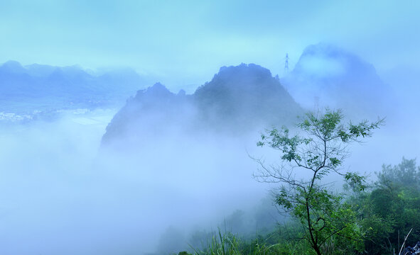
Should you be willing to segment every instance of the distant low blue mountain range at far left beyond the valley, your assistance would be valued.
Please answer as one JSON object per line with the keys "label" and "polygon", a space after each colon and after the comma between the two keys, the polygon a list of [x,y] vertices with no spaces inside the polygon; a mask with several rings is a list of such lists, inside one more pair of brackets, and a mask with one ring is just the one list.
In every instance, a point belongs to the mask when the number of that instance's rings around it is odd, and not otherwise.
{"label": "distant low blue mountain range at far left beyond the valley", "polygon": [[0,100],[8,102],[0,110],[11,111],[5,107],[13,102],[49,108],[104,106],[124,101],[144,84],[144,77],[131,69],[95,75],[78,66],[22,66],[9,61],[0,65]]}

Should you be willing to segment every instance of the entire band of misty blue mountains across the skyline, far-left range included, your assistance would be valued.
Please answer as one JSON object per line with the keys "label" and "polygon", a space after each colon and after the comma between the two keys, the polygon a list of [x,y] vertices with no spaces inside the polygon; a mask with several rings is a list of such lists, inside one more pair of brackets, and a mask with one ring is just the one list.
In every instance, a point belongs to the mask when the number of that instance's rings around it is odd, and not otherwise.
{"label": "entire band of misty blue mountains across the skyline, far-left range included", "polygon": [[343,108],[350,118],[375,118],[397,111],[398,103],[372,64],[327,44],[306,47],[293,71],[280,80],[256,64],[240,64],[220,68],[190,95],[174,94],[159,83],[137,91],[146,84],[151,80],[132,69],[93,74],[77,66],[9,61],[0,66],[0,112],[15,113],[21,105],[36,110],[103,107],[135,94],[109,123],[106,143],[168,126],[235,132],[290,124],[296,115],[325,106]]}

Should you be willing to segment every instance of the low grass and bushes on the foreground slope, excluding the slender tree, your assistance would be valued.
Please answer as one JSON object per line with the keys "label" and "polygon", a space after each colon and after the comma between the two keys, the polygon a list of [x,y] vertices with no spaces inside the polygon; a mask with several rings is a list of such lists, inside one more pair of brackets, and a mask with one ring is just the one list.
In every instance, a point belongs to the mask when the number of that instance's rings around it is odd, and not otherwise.
{"label": "low grass and bushes on the foreground slope, excluding the slender tree", "polygon": [[[341,239],[330,239],[321,246],[321,254],[399,254],[411,228],[406,244],[420,241],[420,167],[415,159],[403,158],[396,166],[383,165],[376,175],[377,181],[369,183],[364,191],[353,190],[352,183],[346,185],[349,195],[343,203],[349,205],[360,227],[360,249]],[[205,249],[192,247],[190,253],[180,254],[316,254],[305,234],[296,220],[276,225],[272,232],[254,238],[219,231],[210,240],[203,240],[207,242]]]}

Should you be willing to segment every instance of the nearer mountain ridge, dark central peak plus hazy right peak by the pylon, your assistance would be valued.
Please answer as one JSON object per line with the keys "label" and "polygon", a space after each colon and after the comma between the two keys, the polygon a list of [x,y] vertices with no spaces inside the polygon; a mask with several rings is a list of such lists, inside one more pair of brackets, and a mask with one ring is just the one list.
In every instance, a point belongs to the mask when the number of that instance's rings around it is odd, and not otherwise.
{"label": "nearer mountain ridge, dark central peak plus hazy right peak by the pylon", "polygon": [[308,46],[280,81],[268,69],[240,64],[220,68],[191,95],[173,94],[162,84],[138,91],[109,123],[102,144],[124,138],[141,142],[168,130],[262,130],[291,125],[297,115],[325,107],[342,108],[352,119],[372,119],[392,114],[396,102],[372,64],[333,45],[318,44]]}

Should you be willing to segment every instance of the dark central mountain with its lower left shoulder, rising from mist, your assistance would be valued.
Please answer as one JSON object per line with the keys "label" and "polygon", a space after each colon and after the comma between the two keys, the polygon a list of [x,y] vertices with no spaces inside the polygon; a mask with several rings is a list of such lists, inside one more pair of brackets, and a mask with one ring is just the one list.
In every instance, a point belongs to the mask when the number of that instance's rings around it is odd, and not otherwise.
{"label": "dark central mountain with its lower left shoulder, rising from mist", "polygon": [[303,110],[271,72],[256,64],[222,67],[194,94],[154,84],[129,98],[107,126],[102,142],[142,140],[160,132],[241,134],[291,124]]}

